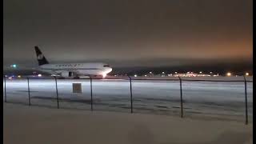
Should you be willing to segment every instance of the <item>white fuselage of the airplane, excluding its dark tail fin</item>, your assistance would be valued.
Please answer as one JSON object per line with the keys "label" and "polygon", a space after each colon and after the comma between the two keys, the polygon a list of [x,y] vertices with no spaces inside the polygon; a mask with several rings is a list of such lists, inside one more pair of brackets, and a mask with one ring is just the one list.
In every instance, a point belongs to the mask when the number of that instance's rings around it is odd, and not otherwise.
{"label": "white fuselage of the airplane, excluding its dark tail fin", "polygon": [[106,75],[112,68],[106,63],[56,63],[39,66],[40,70],[50,74],[64,74],[72,72],[76,75]]}

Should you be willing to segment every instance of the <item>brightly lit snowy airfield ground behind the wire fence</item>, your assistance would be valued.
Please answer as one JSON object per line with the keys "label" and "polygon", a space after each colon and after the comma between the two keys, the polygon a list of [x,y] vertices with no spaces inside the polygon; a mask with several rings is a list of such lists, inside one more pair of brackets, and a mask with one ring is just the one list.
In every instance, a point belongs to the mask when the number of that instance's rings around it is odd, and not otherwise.
{"label": "brightly lit snowy airfield ground behind the wire fence", "polygon": [[[203,114],[244,121],[246,112],[245,83],[225,82],[242,81],[243,78],[211,77],[208,80],[221,80],[222,82],[182,81],[184,117]],[[247,77],[247,80],[252,81],[252,78]],[[82,94],[72,93],[72,83],[82,83]],[[130,112],[129,80],[94,79],[92,83],[94,110]],[[134,113],[178,116],[181,114],[178,78],[168,81],[139,80],[138,78],[132,81],[132,92]],[[247,97],[249,120],[252,121],[253,82],[247,82]],[[31,105],[56,107],[54,78],[31,78],[30,98]],[[90,110],[90,79],[58,79],[58,98],[60,108]],[[6,101],[26,104],[29,102],[26,78],[6,78]]]}

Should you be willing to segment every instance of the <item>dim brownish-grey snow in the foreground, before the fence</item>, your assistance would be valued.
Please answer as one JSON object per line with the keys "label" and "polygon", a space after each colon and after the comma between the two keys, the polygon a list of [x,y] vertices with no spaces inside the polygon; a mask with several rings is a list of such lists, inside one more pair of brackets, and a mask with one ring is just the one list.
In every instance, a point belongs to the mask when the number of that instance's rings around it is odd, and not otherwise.
{"label": "dim brownish-grey snow in the foreground, before the fence", "polygon": [[3,104],[8,144],[252,144],[253,124]]}

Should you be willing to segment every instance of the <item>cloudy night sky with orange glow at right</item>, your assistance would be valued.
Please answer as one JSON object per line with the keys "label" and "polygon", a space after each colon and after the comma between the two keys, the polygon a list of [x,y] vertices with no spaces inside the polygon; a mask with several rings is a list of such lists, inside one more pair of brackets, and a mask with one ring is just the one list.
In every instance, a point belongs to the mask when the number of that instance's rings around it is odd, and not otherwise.
{"label": "cloudy night sky with orange glow at right", "polygon": [[[3,64],[252,63],[253,0],[4,0]],[[5,68],[5,67],[4,67]],[[214,69],[214,68],[213,68]]]}

